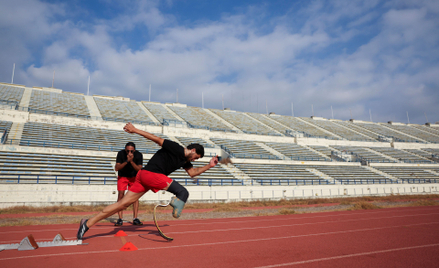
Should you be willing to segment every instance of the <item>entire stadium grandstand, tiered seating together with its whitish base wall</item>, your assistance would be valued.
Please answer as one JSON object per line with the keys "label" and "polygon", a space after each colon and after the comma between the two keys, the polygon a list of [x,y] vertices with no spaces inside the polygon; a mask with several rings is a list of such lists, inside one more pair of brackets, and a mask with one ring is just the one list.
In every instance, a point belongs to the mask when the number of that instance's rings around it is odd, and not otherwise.
{"label": "entire stadium grandstand, tiered seating together with its whitish base wall", "polygon": [[[159,147],[126,122],[205,157],[230,157],[197,178],[177,170],[191,202],[437,194],[439,124],[374,123],[190,107],[0,83],[1,207],[112,203],[116,154],[146,163]],[[147,193],[159,202],[170,194]]]}

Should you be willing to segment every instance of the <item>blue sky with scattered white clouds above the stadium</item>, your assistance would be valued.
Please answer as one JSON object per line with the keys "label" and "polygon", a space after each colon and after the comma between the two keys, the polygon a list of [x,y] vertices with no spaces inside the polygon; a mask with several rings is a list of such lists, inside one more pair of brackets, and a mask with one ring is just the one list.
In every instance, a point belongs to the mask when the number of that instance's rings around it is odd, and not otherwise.
{"label": "blue sky with scattered white clouds above the stadium", "polygon": [[0,36],[5,83],[242,112],[439,121],[437,0],[2,0]]}

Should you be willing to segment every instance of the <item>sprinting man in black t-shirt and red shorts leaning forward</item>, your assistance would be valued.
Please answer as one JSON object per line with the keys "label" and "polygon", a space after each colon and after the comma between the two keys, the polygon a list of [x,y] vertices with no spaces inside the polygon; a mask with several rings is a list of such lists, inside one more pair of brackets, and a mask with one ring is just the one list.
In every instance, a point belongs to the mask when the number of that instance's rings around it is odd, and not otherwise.
{"label": "sprinting man in black t-shirt and red shorts leaning forward", "polygon": [[191,162],[204,156],[204,148],[200,144],[191,144],[184,148],[176,142],[165,140],[146,131],[137,129],[131,123],[126,124],[124,130],[128,133],[141,135],[157,143],[162,148],[154,154],[144,168],[137,172],[134,184],[121,200],[107,206],[96,216],[81,220],[76,235],[78,240],[81,240],[85,232],[97,222],[108,218],[118,211],[126,209],[149,190],[155,193],[160,190],[165,190],[175,194],[170,203],[174,208],[172,215],[175,218],[180,217],[189,197],[189,192],[178,182],[169,178],[168,175],[176,169],[183,167],[189,176],[195,177],[218,164],[218,157],[214,156],[209,164],[198,168],[193,167]]}

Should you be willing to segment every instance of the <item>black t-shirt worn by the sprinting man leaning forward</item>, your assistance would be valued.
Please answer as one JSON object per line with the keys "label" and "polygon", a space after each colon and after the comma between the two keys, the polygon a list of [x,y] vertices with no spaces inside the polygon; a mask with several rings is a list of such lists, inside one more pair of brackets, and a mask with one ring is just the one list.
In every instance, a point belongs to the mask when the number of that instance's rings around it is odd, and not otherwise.
{"label": "black t-shirt worn by the sprinting man leaning forward", "polygon": [[184,169],[192,167],[192,163],[188,162],[184,156],[184,148],[174,141],[164,140],[162,148],[154,154],[143,169],[168,176],[180,167]]}

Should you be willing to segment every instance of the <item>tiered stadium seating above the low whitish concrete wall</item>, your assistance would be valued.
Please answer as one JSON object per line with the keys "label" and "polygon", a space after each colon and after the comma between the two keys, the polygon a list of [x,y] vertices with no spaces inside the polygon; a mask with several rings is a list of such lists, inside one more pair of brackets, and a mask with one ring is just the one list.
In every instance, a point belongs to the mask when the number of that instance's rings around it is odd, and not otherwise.
{"label": "tiered stadium seating above the low whitish concrete wall", "polygon": [[[29,100],[29,107],[19,107],[22,98]],[[145,162],[160,148],[139,135],[124,132],[120,126],[116,128],[119,124],[92,118],[90,101],[95,102],[99,110],[96,113],[103,120],[143,124],[162,138],[184,146],[199,143],[211,150],[222,148],[237,160],[230,166],[217,165],[195,182],[182,169],[170,175],[185,185],[351,185],[439,180],[439,127],[435,124],[243,113],[122,97],[86,98],[55,89],[25,91],[23,87],[0,84],[0,111],[8,116],[0,121],[0,131],[13,129],[14,133],[14,137],[4,135],[4,145],[0,145],[0,183],[114,184],[116,173],[112,165],[116,152],[126,142],[136,144],[136,149],[144,153]],[[23,123],[23,119],[16,121],[9,116],[10,110],[32,116]],[[49,120],[46,115],[53,117]],[[44,120],[37,120],[39,117]],[[77,119],[69,121],[70,117]],[[202,138],[197,132],[203,133]],[[22,148],[40,153],[22,152]],[[56,153],[41,153],[45,148]],[[66,150],[76,153],[69,155]],[[113,156],[94,156],[93,152],[98,151],[99,155]],[[196,161],[194,166],[205,165],[206,161]],[[340,163],[345,161],[358,163]]]}

